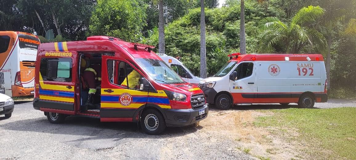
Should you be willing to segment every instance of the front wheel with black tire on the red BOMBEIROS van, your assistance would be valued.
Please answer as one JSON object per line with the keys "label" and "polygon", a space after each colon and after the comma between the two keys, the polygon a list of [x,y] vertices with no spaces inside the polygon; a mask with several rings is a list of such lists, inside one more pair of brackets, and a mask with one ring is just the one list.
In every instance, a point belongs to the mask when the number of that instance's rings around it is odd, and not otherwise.
{"label": "front wheel with black tire on the red BOMBEIROS van", "polygon": [[161,134],[166,129],[166,120],[161,112],[155,109],[147,109],[142,112],[140,120],[142,130],[150,135]]}

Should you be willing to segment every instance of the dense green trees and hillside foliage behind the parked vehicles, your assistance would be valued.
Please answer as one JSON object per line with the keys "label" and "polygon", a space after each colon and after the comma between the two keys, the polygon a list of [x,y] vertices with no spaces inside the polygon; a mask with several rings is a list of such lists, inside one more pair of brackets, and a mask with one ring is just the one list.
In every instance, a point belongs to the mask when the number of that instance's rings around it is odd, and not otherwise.
{"label": "dense green trees and hillside foliage behind the parked vehicles", "polygon": [[[200,70],[199,2],[163,0],[166,54],[181,56],[195,75]],[[240,4],[240,0],[226,0],[216,8],[217,0],[205,0],[208,76],[224,65],[227,54],[239,52]],[[310,5],[323,12],[303,19],[308,8],[302,8]],[[330,50],[331,95],[354,96],[355,10],[354,0],[245,1],[247,53],[320,53],[326,60]],[[0,0],[0,31],[45,37],[51,29],[54,37],[62,35],[68,41],[110,35],[158,48],[157,28],[155,0]]]}

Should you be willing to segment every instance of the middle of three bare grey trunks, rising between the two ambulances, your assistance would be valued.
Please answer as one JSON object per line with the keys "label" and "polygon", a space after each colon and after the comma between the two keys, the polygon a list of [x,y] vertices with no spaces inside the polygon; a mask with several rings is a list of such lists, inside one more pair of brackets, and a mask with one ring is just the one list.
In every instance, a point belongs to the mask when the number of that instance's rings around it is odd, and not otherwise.
{"label": "middle of three bare grey trunks, rising between the two ambulances", "polygon": [[200,0],[200,77],[207,77],[206,44],[205,44],[205,6],[204,0]]}

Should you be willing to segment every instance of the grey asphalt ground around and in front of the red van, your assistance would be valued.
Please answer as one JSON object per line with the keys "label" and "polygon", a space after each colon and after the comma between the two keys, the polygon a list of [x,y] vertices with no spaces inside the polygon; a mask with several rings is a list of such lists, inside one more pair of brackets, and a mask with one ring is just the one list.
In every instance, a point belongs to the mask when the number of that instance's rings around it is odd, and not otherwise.
{"label": "grey asphalt ground around and in front of the red van", "polygon": [[[288,105],[287,107],[296,107]],[[356,107],[356,100],[329,100],[315,107]],[[235,106],[233,110],[279,109],[281,105]],[[211,111],[216,111],[212,107]],[[209,118],[209,116],[208,116]],[[0,159],[256,159],[237,150],[238,142],[206,132],[204,126],[167,128],[150,136],[136,123],[67,117],[51,124],[32,102],[16,102],[12,117],[0,116]]]}

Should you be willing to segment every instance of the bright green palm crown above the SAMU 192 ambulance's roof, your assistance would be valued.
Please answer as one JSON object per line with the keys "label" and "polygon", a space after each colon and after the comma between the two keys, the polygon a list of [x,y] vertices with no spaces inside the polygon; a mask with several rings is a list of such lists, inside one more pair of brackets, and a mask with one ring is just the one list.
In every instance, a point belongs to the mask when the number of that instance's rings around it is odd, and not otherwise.
{"label": "bright green palm crown above the SAMU 192 ambulance's roof", "polygon": [[271,51],[277,44],[286,46],[286,53],[297,54],[306,44],[316,45],[320,53],[325,53],[326,39],[309,25],[324,15],[325,10],[319,6],[300,9],[288,24],[277,17],[266,17],[261,21],[261,49]]}

